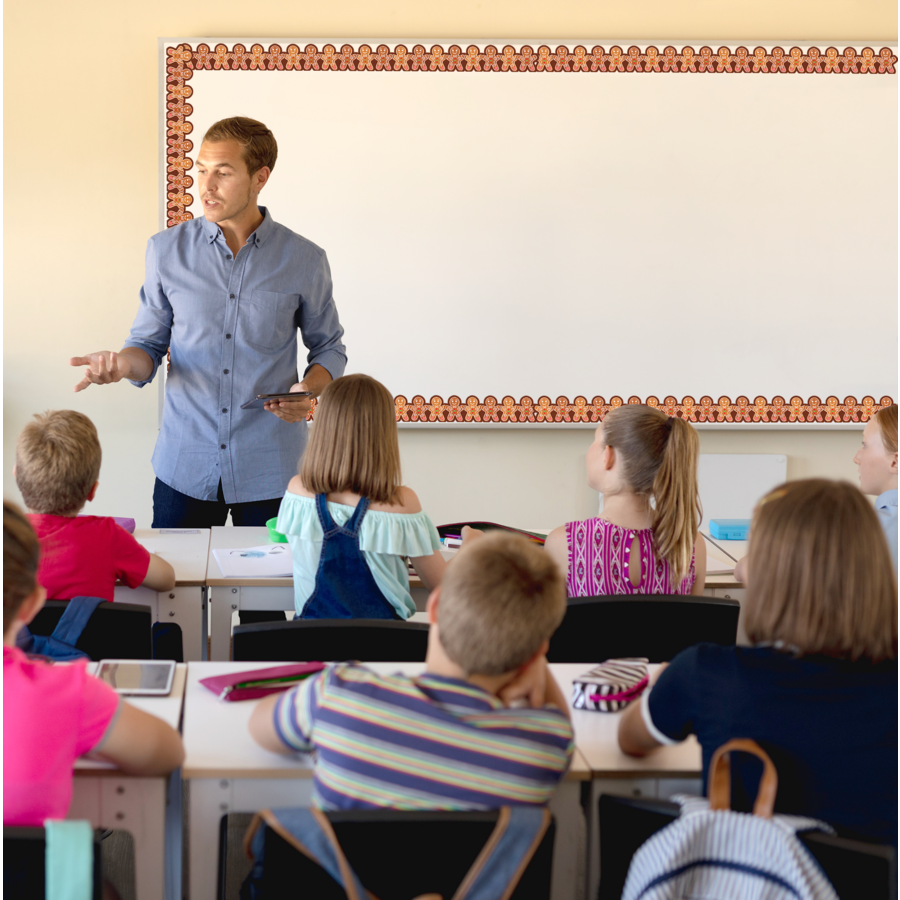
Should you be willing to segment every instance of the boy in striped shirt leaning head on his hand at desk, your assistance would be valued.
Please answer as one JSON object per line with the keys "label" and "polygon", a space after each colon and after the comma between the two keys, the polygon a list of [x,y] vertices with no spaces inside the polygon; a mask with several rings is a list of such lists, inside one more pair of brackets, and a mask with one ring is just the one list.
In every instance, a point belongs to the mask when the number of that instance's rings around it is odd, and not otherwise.
{"label": "boy in striped shirt leaning head on his hand at desk", "polygon": [[323,809],[547,803],[573,750],[545,656],[565,609],[546,554],[485,535],[428,598],[423,675],[336,665],[263,700],[250,732],[275,753],[316,751],[313,802]]}

